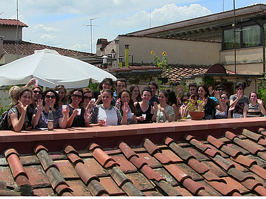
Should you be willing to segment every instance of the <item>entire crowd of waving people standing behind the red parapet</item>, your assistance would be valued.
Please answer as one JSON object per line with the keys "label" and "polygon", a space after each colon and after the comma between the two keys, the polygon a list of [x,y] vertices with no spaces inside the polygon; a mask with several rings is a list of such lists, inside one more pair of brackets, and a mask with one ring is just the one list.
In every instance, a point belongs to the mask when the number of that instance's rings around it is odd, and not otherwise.
{"label": "entire crowd of waving people standing behind the red parapet", "polygon": [[[137,85],[127,88],[126,79],[106,78],[99,90],[74,88],[69,92],[64,85],[45,90],[31,79],[24,87],[13,86],[9,96],[12,107],[8,111],[8,128],[19,132],[33,128],[47,128],[49,107],[53,112],[53,127],[94,127],[149,122],[174,122],[189,118],[189,101],[204,102],[204,119],[245,118],[264,116],[263,102],[256,92],[250,99],[243,95],[245,86],[237,84],[237,93],[229,96],[222,84],[215,90],[205,84],[189,84],[190,92],[173,90],[158,92],[158,84],[149,82],[140,91]],[[115,87],[115,90],[113,88]],[[158,92],[158,96],[156,95]]]}

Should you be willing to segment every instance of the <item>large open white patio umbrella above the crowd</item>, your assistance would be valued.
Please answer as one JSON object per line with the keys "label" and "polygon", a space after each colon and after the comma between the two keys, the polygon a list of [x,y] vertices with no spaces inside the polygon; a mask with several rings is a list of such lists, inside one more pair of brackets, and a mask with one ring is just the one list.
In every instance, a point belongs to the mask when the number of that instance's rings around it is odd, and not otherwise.
{"label": "large open white patio umbrella above the crowd", "polygon": [[89,80],[99,83],[104,78],[116,80],[114,75],[78,59],[43,49],[33,55],[17,59],[0,67],[0,85],[25,84],[31,78],[38,79],[38,85],[54,88],[84,88]]}

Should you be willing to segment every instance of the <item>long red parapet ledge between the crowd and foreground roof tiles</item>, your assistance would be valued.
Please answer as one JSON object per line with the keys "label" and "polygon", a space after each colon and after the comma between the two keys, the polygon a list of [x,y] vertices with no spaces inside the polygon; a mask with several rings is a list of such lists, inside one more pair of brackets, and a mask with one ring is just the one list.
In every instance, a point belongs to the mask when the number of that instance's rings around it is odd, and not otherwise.
{"label": "long red parapet ledge between the crowd and foreground roof tiles", "polygon": [[[162,142],[162,137],[174,137],[175,140],[182,140],[184,135],[190,134],[202,140],[206,135],[223,136],[226,131],[238,134],[238,129],[255,129],[265,127],[266,117],[261,118],[232,118],[220,120],[182,120],[181,122],[151,123],[151,124],[130,124],[106,127],[80,127],[69,129],[55,129],[54,131],[0,131],[0,146],[8,143],[24,143],[27,146],[51,142],[53,144],[69,144],[70,142],[83,143],[86,147],[92,142],[106,143],[106,147],[117,147],[119,140],[123,141],[128,137],[129,142],[134,144],[136,140],[143,140],[143,137]],[[208,133],[208,134],[207,134]],[[158,139],[156,139],[158,138]],[[127,140],[127,139],[126,139]],[[99,143],[100,144],[100,143]],[[52,144],[50,144],[52,145]],[[101,145],[102,146],[102,145]],[[36,147],[36,146],[35,146]],[[54,146],[56,147],[56,146]],[[62,148],[63,146],[58,146]],[[82,146],[80,146],[82,148]],[[1,147],[0,147],[1,150]],[[50,148],[49,151],[52,149]]]}

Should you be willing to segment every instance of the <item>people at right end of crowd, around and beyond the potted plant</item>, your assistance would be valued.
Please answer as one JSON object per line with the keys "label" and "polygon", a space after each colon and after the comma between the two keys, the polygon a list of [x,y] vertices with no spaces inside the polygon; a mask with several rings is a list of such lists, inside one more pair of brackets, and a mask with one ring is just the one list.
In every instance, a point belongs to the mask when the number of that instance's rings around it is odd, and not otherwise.
{"label": "people at right end of crowd, around and beyond the potted plant", "polygon": [[251,92],[250,97],[243,94],[245,84],[239,82],[235,86],[236,93],[231,96],[226,92],[225,86],[219,84],[213,90],[205,84],[189,84],[189,92],[180,97],[180,118],[189,118],[187,101],[199,99],[204,101],[204,119],[223,118],[247,118],[254,116],[265,116],[263,101],[256,92]]}

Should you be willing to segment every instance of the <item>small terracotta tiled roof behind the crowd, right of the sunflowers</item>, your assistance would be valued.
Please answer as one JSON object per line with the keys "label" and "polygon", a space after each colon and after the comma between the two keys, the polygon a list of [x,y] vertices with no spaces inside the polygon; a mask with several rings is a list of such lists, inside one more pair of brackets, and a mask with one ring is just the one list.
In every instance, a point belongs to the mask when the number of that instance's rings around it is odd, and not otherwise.
{"label": "small terracotta tiled roof behind the crowd, right of the sunflowers", "polygon": [[[206,73],[209,67],[210,66],[176,64],[171,66],[171,71],[170,73],[167,73],[166,77],[169,77],[168,81],[171,81],[172,83],[180,83],[184,77],[191,77],[191,75]],[[226,73],[234,74],[234,72],[230,70],[226,70]]]}

